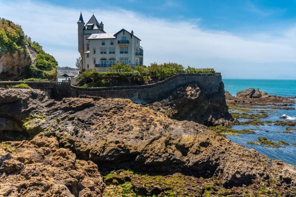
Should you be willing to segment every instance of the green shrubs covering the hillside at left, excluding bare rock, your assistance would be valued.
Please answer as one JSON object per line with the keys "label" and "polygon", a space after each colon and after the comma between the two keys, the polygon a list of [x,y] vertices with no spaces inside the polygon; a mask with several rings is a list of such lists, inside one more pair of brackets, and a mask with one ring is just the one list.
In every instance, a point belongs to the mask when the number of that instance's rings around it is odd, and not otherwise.
{"label": "green shrubs covering the hillside at left, excluding bare rock", "polygon": [[[34,54],[28,48],[32,49]],[[32,64],[27,65],[24,73],[20,73],[19,77],[21,78],[57,79],[58,63],[55,58],[45,53],[39,43],[32,41],[30,37],[25,35],[20,25],[0,18],[0,59],[3,53],[6,53],[6,56],[14,53],[24,54],[25,59],[31,59]],[[36,56],[34,62],[31,54]],[[9,79],[9,76],[2,76],[2,78]]]}

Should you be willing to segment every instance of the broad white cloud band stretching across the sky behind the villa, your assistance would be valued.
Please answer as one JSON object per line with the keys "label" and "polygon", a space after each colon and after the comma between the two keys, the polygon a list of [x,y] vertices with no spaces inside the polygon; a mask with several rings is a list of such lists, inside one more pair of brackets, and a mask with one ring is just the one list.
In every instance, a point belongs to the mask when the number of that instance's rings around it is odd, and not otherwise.
{"label": "broad white cloud band stretching across the sky behind the villa", "polygon": [[[287,27],[276,37],[268,32],[244,37],[203,30],[196,25],[192,28],[195,20],[169,21],[118,7],[82,10],[85,22],[93,12],[99,21],[104,22],[107,32],[117,32],[122,28],[134,30],[135,35],[142,39],[146,65],[170,61],[185,66],[215,67],[224,72],[236,69],[237,73],[240,65],[296,64],[296,26]],[[45,51],[52,53],[60,66],[74,67],[75,57],[79,56],[76,24],[79,14],[80,8],[30,0],[0,0],[0,17],[22,25],[25,33],[39,42]],[[249,70],[249,74],[251,72]],[[233,71],[233,76],[236,73]],[[276,73],[273,74],[275,76]],[[226,76],[232,77],[229,73]]]}

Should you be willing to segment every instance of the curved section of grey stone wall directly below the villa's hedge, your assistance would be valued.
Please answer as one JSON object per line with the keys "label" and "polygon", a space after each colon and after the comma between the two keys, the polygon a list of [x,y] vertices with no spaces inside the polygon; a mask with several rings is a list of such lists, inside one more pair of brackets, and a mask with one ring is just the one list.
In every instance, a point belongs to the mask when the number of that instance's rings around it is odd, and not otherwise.
{"label": "curved section of grey stone wall directly below the villa's hedge", "polygon": [[72,97],[88,95],[103,98],[123,98],[131,99],[136,103],[145,104],[164,99],[177,88],[190,83],[197,84],[206,95],[211,95],[219,91],[220,84],[222,83],[222,76],[221,73],[184,73],[154,84],[142,86],[81,88],[71,85],[70,92]]}

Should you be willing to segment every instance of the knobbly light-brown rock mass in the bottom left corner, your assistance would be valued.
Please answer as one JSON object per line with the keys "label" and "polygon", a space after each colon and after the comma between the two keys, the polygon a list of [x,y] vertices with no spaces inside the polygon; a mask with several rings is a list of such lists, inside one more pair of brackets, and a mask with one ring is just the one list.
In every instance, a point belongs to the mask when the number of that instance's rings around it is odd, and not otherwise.
{"label": "knobbly light-brown rock mass in the bottom left corner", "polygon": [[101,197],[105,184],[97,165],[58,144],[43,136],[0,144],[0,196]]}

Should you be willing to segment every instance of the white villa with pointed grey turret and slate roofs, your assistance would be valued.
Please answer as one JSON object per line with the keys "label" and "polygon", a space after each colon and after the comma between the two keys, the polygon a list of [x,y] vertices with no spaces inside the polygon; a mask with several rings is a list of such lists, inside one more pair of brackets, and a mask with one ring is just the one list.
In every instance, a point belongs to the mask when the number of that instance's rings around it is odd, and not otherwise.
{"label": "white villa with pointed grey turret and slate roofs", "polygon": [[106,33],[103,22],[99,23],[95,15],[85,25],[82,13],[77,24],[81,71],[106,72],[114,63],[120,62],[132,67],[143,65],[141,39],[134,35],[134,31],[122,29],[117,33]]}

